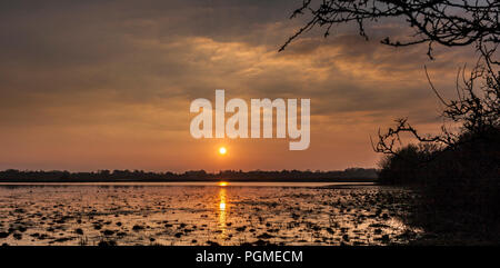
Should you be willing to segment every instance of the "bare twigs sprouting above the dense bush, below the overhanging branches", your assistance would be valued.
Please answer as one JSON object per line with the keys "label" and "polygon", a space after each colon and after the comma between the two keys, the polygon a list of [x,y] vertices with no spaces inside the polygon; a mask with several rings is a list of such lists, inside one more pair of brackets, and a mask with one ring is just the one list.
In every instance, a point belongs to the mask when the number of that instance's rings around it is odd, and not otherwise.
{"label": "bare twigs sprouting above the dense bush, below the overhanging branches", "polygon": [[[373,146],[377,152],[394,155],[394,147],[401,145],[400,133],[409,132],[420,142],[432,142],[453,149],[464,142],[478,139],[490,139],[500,130],[500,73],[493,69],[487,57],[472,69],[469,77],[464,68],[457,75],[458,99],[446,101],[429,79],[429,83],[443,105],[441,117],[447,121],[459,123],[458,132],[449,131],[443,125],[439,135],[420,135],[407,119],[398,119],[394,128],[378,133],[378,142]],[[486,64],[484,64],[486,62]],[[489,64],[488,64],[489,63]],[[462,78],[462,83],[458,82]],[[479,86],[478,86],[479,83]]]}

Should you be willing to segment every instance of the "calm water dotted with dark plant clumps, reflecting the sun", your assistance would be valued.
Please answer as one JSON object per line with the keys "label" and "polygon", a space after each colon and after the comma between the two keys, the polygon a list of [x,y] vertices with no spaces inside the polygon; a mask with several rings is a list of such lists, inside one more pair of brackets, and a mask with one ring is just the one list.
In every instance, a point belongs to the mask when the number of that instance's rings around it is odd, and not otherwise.
{"label": "calm water dotted with dark plant clumps, reflecting the sun", "polygon": [[410,191],[331,185],[1,185],[0,244],[387,245],[420,236],[401,221]]}

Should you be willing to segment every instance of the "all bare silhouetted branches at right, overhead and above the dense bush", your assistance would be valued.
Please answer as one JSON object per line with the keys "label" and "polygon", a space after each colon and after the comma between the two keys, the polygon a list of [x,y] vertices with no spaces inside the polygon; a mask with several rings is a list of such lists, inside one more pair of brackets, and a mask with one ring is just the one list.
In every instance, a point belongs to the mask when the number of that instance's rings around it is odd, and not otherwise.
{"label": "all bare silhouetted branches at right, overhead and above the dense bush", "polygon": [[[394,147],[401,145],[402,132],[411,133],[421,142],[454,146],[458,141],[467,141],[462,132],[468,132],[468,137],[476,139],[499,128],[500,62],[494,59],[500,40],[499,14],[500,2],[497,0],[304,0],[291,18],[308,16],[309,19],[283,43],[280,51],[314,27],[324,28],[323,34],[328,37],[334,26],[353,22],[358,24],[359,34],[368,39],[366,23],[377,23],[390,18],[403,19],[414,32],[407,41],[386,37],[381,42],[388,46],[428,43],[428,56],[431,59],[434,43],[447,47],[476,46],[480,57],[470,76],[464,76],[466,68],[460,69],[457,75],[457,100],[446,101],[429,79],[431,89],[444,105],[443,118],[460,123],[463,131],[451,132],[443,126],[440,135],[421,136],[402,118],[397,120],[396,127],[384,132],[379,130],[379,141],[373,149],[377,152],[397,153]],[[459,78],[462,85],[459,85]]]}

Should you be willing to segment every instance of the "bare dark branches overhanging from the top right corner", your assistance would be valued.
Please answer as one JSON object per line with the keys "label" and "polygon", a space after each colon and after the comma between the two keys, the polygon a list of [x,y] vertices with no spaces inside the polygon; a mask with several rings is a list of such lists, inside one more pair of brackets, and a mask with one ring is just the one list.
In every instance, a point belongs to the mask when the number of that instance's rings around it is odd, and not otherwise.
{"label": "bare dark branches overhanging from the top right corner", "polygon": [[327,37],[333,26],[354,22],[359,34],[368,39],[364,24],[388,18],[404,20],[414,34],[408,41],[386,37],[382,43],[393,47],[429,43],[430,58],[433,43],[461,47],[478,41],[498,43],[500,40],[498,0],[306,0],[291,18],[304,16],[306,12],[310,18],[306,26],[291,36],[279,51],[316,26],[324,27],[323,36]]}

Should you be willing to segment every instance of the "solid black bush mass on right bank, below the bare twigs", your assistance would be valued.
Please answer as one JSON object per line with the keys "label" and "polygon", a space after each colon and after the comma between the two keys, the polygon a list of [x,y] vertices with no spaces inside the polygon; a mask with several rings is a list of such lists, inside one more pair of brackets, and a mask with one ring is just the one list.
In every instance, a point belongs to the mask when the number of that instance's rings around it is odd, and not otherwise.
{"label": "solid black bush mass on right bank, below the bare twigs", "polygon": [[[380,162],[380,183],[420,195],[409,219],[430,231],[500,238],[500,130],[463,133],[454,147],[409,145]],[[493,238],[497,237],[497,238]]]}

